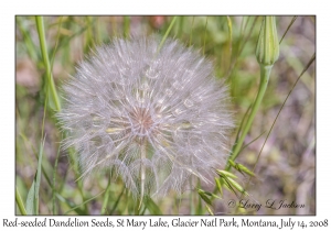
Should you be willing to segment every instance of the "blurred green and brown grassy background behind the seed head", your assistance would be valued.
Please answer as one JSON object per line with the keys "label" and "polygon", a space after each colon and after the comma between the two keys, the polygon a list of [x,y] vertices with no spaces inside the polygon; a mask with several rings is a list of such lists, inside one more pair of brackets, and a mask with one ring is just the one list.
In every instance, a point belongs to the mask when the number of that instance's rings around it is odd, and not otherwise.
{"label": "blurred green and brown grassy background behind the seed head", "polygon": [[[166,33],[173,16],[44,16],[47,51],[55,86],[75,74],[76,64],[96,45],[114,37]],[[211,59],[215,76],[231,88],[236,124],[254,101],[259,84],[259,65],[255,47],[263,16],[179,16],[169,37],[193,46]],[[293,16],[277,16],[278,38]],[[15,185],[23,201],[38,168],[42,121],[46,99],[46,77],[34,16],[15,18]],[[298,16],[280,44],[269,86],[253,127],[245,140],[250,143],[237,162],[253,168],[276,116],[312,54],[316,51],[316,18]],[[49,100],[45,114],[45,143],[40,186],[40,215],[130,215],[135,201],[124,190],[120,179],[109,182],[107,174],[95,174],[82,182],[75,173],[75,160],[61,151],[62,134],[54,118],[54,102]],[[232,143],[236,131],[233,132]],[[55,164],[58,154],[57,166]],[[249,204],[261,204],[256,211],[235,211],[226,193],[213,202],[217,215],[314,215],[316,213],[316,68],[303,74],[289,96],[255,169],[257,177],[248,184]],[[248,178],[241,176],[241,183]],[[55,177],[55,178],[54,178]],[[53,187],[53,179],[55,185]],[[107,186],[108,187],[108,191]],[[204,186],[212,190],[214,186]],[[106,196],[107,197],[106,197]],[[268,199],[295,201],[305,208],[265,208]],[[86,201],[87,202],[84,202]],[[192,205],[193,201],[193,205]],[[171,193],[145,210],[149,213],[205,215],[207,211],[195,191]],[[82,205],[84,204],[84,205]],[[17,209],[17,215],[20,215]]]}

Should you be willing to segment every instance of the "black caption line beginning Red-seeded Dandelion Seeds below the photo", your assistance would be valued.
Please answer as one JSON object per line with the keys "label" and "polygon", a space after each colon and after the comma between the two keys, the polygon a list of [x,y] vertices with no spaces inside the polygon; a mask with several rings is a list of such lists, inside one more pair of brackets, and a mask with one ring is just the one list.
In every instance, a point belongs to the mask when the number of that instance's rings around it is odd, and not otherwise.
{"label": "black caption line beginning Red-seeded Dandelion Seeds below the photo", "polygon": [[290,228],[328,227],[328,219],[320,222],[296,221],[296,219],[252,219],[252,218],[15,218],[2,219],[2,227],[108,227],[108,228],[199,228],[199,227],[256,227]]}

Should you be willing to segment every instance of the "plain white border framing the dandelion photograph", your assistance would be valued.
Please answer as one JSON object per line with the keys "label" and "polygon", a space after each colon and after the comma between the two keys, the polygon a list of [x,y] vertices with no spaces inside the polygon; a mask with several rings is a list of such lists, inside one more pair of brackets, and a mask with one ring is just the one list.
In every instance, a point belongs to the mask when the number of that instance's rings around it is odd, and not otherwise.
{"label": "plain white border framing the dandelion photograph", "polygon": [[[14,15],[15,14],[316,14],[317,15],[317,216],[295,220],[324,220],[330,217],[330,12],[328,1],[2,1],[0,4],[0,227],[14,219]],[[325,3],[324,3],[325,2]],[[252,220],[259,217],[249,217]],[[289,217],[263,217],[268,220]],[[33,220],[33,218],[29,218]],[[85,217],[85,219],[89,219]],[[104,219],[104,218],[100,218]],[[139,218],[140,219],[140,218]],[[166,217],[169,222],[173,217]],[[196,218],[200,219],[200,218]],[[229,218],[228,218],[229,219]],[[241,217],[236,217],[241,219]],[[331,220],[330,220],[331,221]],[[330,226],[330,224],[329,224]],[[20,228],[19,228],[20,229]],[[32,228],[33,229],[33,228]],[[62,228],[63,229],[63,228]],[[79,228],[87,230],[86,228]],[[193,229],[193,228],[186,228]],[[201,229],[201,228],[200,228]],[[220,229],[220,228],[217,228]],[[236,229],[236,228],[232,228]],[[255,228],[253,228],[255,229]],[[12,228],[10,229],[12,230]],[[149,230],[149,229],[147,229]],[[237,230],[237,229],[236,229]],[[305,229],[310,230],[310,229]]]}

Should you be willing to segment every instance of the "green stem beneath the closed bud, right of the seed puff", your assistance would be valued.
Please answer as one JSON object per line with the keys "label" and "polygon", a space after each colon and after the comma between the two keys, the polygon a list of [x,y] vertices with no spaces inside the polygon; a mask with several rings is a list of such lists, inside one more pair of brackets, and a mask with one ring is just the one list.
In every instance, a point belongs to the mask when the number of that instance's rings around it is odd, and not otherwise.
{"label": "green stem beneath the closed bud, right of the seed puff", "polygon": [[[233,147],[233,152],[229,157],[233,161],[236,160],[236,157],[238,156],[238,154],[242,150],[245,138],[252,127],[253,120],[254,120],[256,112],[259,108],[259,105],[264,98],[264,95],[265,95],[267,86],[268,86],[271,68],[273,68],[273,65],[270,65],[270,66],[260,65],[260,82],[259,82],[258,94],[257,94],[257,97],[253,105],[248,120],[243,129],[243,133],[242,133],[241,138],[238,139],[238,142]],[[229,170],[229,168],[231,168],[231,165],[227,163],[226,170]]]}

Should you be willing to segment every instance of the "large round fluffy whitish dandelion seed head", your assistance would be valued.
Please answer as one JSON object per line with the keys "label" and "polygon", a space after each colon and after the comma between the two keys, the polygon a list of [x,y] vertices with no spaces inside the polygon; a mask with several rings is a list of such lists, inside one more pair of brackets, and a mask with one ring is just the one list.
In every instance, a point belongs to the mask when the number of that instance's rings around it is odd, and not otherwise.
{"label": "large round fluffy whitish dandelion seed head", "polygon": [[209,182],[234,127],[211,62],[178,41],[159,45],[151,36],[97,47],[64,84],[57,113],[83,176],[111,169],[135,196],[181,193],[190,176]]}

